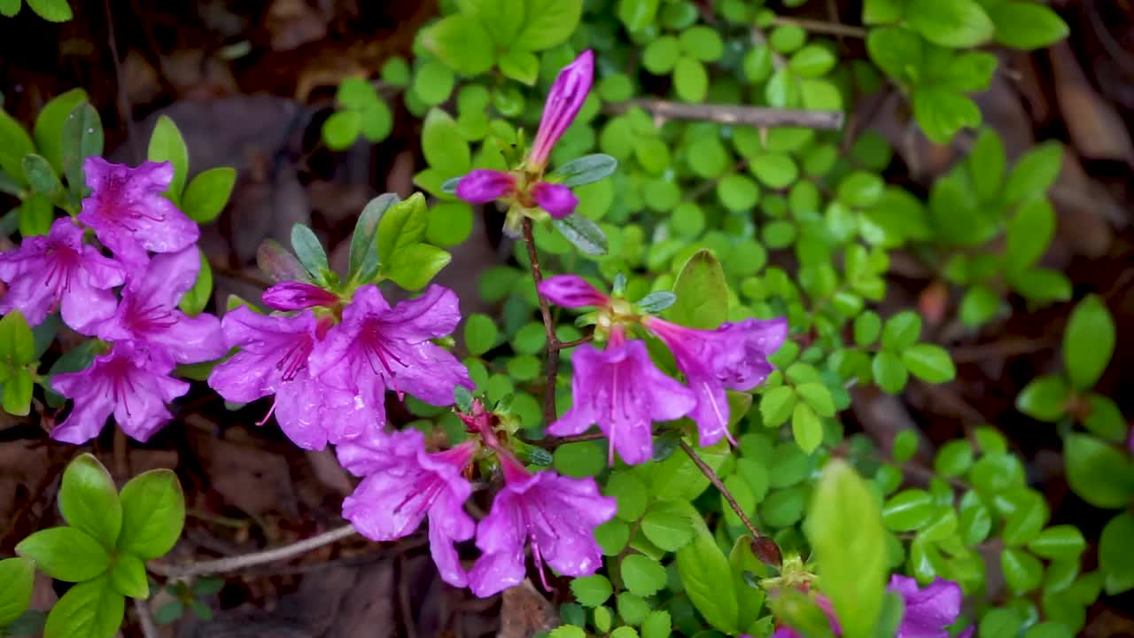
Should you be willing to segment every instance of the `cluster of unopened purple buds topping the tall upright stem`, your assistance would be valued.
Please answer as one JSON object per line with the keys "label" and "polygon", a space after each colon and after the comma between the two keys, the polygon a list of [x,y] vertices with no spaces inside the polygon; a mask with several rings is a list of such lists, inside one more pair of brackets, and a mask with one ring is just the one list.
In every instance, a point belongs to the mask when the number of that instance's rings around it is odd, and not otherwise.
{"label": "cluster of unopened purple buds topping the tall upright stem", "polygon": [[468,203],[482,204],[493,200],[518,203],[525,209],[540,208],[551,217],[562,219],[575,212],[578,198],[567,186],[543,181],[548,159],[556,142],[583,108],[591,84],[594,82],[594,53],[583,51],[556,76],[543,106],[543,117],[535,133],[535,142],[516,171],[477,169],[457,183],[457,196]]}

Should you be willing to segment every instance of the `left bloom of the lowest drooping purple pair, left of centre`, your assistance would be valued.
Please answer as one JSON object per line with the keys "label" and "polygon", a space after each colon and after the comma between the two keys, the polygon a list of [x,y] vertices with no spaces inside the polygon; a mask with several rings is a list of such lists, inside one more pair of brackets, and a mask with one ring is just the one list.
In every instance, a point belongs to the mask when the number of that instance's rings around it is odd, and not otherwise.
{"label": "left bloom of the lowest drooping purple pair, left of centre", "polygon": [[340,444],[339,462],[364,477],[354,494],[342,501],[342,518],[371,540],[395,540],[417,529],[429,517],[430,553],[441,578],[466,587],[468,576],[454,544],[473,537],[476,523],[465,513],[472,486],[464,471],[476,444],[429,454],[417,430],[393,435],[370,433]]}

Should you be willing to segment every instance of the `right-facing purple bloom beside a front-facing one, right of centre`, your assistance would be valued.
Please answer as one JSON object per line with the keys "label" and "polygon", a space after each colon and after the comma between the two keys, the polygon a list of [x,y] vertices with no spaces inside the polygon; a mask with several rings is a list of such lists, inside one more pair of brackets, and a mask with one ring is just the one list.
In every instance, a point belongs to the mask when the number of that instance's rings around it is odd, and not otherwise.
{"label": "right-facing purple bloom beside a front-facing one, right of centre", "polygon": [[728,431],[728,396],[725,389],[750,391],[772,371],[768,356],[787,339],[787,319],[745,319],[722,324],[716,330],[697,330],[646,317],[643,324],[666,343],[697,396],[689,414],[697,423],[701,445],[713,445]]}

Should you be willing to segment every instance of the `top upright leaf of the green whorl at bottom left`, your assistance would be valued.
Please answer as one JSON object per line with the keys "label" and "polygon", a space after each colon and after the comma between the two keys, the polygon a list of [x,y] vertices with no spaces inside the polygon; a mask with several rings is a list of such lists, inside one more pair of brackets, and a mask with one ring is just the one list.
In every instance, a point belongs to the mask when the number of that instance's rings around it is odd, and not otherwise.
{"label": "top upright leaf of the green whorl at bottom left", "polygon": [[59,510],[67,522],[111,552],[122,527],[122,504],[110,472],[91,454],[67,465],[59,488]]}

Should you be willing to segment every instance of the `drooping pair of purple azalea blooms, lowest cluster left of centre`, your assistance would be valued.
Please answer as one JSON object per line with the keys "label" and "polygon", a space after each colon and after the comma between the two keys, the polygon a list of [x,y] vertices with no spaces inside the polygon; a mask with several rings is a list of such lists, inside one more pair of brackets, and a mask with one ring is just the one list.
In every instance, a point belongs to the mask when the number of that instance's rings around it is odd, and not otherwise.
{"label": "drooping pair of purple azalea blooms, lowest cluster left of centre", "polygon": [[[465,478],[481,443],[469,439],[451,450],[425,451],[415,430],[384,435],[369,431],[338,445],[342,467],[364,477],[342,503],[342,517],[363,536],[395,540],[429,519],[430,549],[441,578],[486,597],[524,580],[525,544],[547,587],[543,563],[565,576],[589,576],[602,564],[594,528],[612,519],[615,500],[599,494],[594,479],[553,471],[528,472],[500,447],[480,403],[464,417],[497,454],[505,484],[492,510],[479,523],[465,513],[472,494]],[[466,571],[454,547],[475,535],[481,556]]]}

